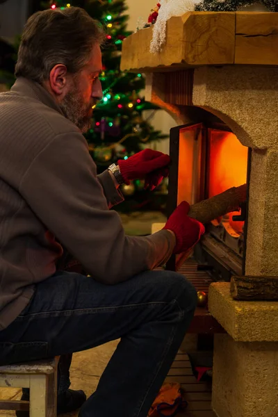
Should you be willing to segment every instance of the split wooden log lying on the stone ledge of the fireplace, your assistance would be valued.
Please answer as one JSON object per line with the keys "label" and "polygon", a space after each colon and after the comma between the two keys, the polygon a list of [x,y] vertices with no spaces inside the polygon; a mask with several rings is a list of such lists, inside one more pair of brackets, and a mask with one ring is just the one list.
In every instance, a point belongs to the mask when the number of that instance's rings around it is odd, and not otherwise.
{"label": "split wooden log lying on the stone ledge of the fireplace", "polygon": [[232,277],[231,295],[234,300],[278,300],[278,277]]}

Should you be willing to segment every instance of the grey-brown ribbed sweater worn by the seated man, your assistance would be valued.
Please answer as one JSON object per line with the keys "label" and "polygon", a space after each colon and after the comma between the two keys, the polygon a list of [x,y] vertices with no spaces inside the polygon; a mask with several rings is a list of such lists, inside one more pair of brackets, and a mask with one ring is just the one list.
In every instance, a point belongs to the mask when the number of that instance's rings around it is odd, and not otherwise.
{"label": "grey-brown ribbed sweater worn by the seated man", "polygon": [[56,270],[62,248],[93,279],[116,284],[169,259],[174,237],[128,237],[115,211],[122,201],[96,165],[79,129],[49,92],[17,79],[0,94],[0,330]]}

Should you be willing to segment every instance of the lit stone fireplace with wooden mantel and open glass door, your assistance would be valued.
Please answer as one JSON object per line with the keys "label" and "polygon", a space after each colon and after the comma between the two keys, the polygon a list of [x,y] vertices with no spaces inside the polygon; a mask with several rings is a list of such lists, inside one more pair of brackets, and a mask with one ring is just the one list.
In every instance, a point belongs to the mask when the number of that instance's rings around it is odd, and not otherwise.
{"label": "lit stone fireplace with wooden mantel and open glass door", "polygon": [[227,332],[215,334],[213,409],[275,417],[278,302],[236,301],[229,279],[278,279],[278,14],[190,12],[167,22],[159,54],[151,39],[147,28],[124,40],[122,70],[144,72],[147,99],[177,121],[169,212],[247,181],[241,212],[208,224],[195,250],[214,268],[208,307]]}

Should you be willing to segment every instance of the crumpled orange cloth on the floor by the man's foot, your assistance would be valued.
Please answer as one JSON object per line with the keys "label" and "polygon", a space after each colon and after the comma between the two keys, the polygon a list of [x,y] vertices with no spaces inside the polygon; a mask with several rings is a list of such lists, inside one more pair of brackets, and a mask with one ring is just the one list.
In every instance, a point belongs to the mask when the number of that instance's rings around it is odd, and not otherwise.
{"label": "crumpled orange cloth on the floor by the man's foot", "polygon": [[181,396],[180,384],[164,384],[149,410],[148,417],[174,416],[186,405],[187,402]]}

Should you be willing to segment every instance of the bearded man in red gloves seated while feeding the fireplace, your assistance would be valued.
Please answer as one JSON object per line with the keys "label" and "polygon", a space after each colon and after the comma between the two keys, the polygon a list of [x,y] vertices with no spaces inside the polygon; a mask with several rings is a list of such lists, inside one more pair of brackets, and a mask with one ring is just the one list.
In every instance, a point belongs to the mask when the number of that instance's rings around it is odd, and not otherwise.
{"label": "bearded man in red gloves seated while feeding the fireplace", "polygon": [[[109,210],[122,202],[122,183],[154,188],[170,158],[146,149],[97,175],[82,133],[102,97],[103,40],[81,8],[35,13],[17,81],[0,95],[0,365],[61,355],[58,414],[82,405],[81,417],[146,417],[196,305],[182,275],[153,270],[193,247],[204,227],[183,202],[163,230],[130,237]],[[90,276],[56,268],[62,247]],[[69,389],[67,358],[118,338],[85,401]]]}

